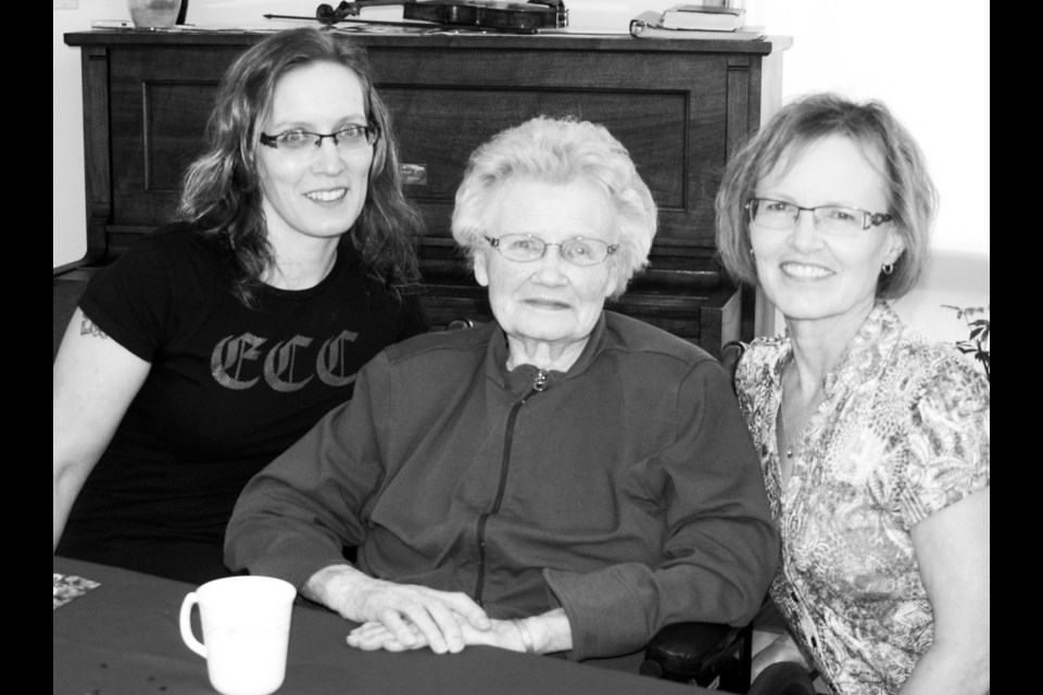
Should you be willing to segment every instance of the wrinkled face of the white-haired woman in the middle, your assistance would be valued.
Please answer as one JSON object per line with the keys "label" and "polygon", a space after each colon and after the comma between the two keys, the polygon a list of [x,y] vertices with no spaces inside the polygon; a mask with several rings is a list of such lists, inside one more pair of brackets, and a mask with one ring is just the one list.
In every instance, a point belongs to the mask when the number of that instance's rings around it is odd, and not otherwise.
{"label": "wrinkled face of the white-haired woman in the middle", "polygon": [[[507,181],[493,206],[489,237],[527,233],[546,243],[574,237],[616,243],[612,204],[587,181]],[[548,247],[542,258],[528,263],[507,260],[492,247],[475,256],[475,277],[489,288],[492,313],[507,337],[555,346],[590,336],[616,287],[614,268],[612,256],[598,265],[574,265],[558,247]]]}

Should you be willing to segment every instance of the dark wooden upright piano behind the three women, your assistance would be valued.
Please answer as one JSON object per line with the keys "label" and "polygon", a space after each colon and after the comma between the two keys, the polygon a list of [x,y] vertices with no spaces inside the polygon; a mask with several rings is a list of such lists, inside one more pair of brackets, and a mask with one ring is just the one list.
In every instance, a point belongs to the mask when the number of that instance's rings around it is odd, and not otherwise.
{"label": "dark wooden upright piano behind the three women", "polygon": [[[334,29],[364,46],[400,142],[422,298],[435,327],[490,317],[450,235],[470,152],[536,115],[605,125],[659,208],[651,266],[611,308],[712,354],[768,317],[715,258],[714,195],[743,139],[778,106],[788,37],[638,39],[538,33]],[[165,224],[185,166],[202,150],[221,75],[262,31],[92,29],[65,34],[83,63],[87,265]]]}

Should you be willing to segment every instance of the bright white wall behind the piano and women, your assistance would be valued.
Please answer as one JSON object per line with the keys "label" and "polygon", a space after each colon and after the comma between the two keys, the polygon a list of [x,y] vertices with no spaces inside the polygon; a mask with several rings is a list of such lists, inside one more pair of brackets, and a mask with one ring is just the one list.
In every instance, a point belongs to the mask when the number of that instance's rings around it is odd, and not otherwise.
{"label": "bright white wall behind the piano and women", "polygon": [[[59,10],[60,4],[77,4]],[[330,2],[336,7],[336,2]],[[671,0],[565,0],[574,29],[625,33],[643,10]],[[79,51],[64,31],[97,18],[129,18],[125,0],[54,0],[53,266],[86,249]],[[190,0],[188,22],[264,25],[265,13],[310,15],[318,0]],[[370,8],[367,16],[401,17]],[[989,302],[989,5],[970,0],[746,0],[749,24],[793,37],[783,100],[818,89],[883,99],[923,148],[941,191],[935,260],[899,311],[926,332],[963,338],[940,304]]]}

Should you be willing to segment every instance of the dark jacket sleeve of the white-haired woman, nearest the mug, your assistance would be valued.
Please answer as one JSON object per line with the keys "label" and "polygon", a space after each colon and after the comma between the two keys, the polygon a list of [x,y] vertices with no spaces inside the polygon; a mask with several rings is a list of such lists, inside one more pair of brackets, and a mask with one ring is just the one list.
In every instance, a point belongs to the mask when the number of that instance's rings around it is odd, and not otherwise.
{"label": "dark jacket sleeve of the white-haired woman, nearest the mug", "polygon": [[300,589],[342,548],[365,538],[361,510],[384,466],[370,400],[385,353],[359,372],[354,396],[273,460],[243,489],[225,534],[233,570],[278,577]]}

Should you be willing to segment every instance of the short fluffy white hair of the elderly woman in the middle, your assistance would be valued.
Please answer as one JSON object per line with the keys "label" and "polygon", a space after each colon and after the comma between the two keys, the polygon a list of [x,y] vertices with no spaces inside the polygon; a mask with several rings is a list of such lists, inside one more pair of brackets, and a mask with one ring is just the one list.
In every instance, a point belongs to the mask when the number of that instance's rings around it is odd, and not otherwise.
{"label": "short fluffy white hair of the elderly woman in the middle", "polygon": [[476,149],[456,191],[453,238],[474,263],[487,242],[492,206],[500,189],[516,178],[549,184],[581,179],[604,192],[614,211],[619,250],[608,257],[618,274],[613,299],[648,265],[656,230],[652,192],[629,152],[602,125],[576,118],[537,116],[507,128]]}

